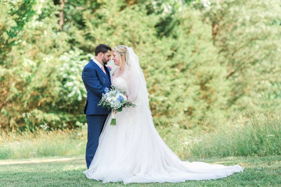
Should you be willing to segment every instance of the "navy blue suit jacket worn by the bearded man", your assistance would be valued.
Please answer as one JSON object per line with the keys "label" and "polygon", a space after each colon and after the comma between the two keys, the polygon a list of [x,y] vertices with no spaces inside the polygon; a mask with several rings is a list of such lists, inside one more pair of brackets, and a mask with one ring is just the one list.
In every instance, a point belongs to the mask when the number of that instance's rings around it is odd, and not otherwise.
{"label": "navy blue suit jacket worn by the bearded man", "polygon": [[106,75],[93,60],[90,60],[82,71],[82,80],[87,90],[87,99],[84,108],[84,114],[86,115],[109,114],[111,112],[108,108],[97,106],[97,103],[102,99],[104,89],[110,89],[111,86],[110,73],[107,67],[105,65],[103,66]]}

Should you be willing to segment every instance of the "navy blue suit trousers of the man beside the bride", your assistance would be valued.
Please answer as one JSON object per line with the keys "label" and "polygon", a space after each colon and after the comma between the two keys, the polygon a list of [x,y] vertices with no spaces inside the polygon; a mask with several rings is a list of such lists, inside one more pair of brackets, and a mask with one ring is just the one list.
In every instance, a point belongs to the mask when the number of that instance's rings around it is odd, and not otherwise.
{"label": "navy blue suit trousers of the man beside the bride", "polygon": [[104,123],[107,119],[108,114],[101,115],[86,115],[88,124],[88,141],[86,146],[86,164],[89,169],[90,164],[97,151],[99,145],[99,137],[102,133]]}

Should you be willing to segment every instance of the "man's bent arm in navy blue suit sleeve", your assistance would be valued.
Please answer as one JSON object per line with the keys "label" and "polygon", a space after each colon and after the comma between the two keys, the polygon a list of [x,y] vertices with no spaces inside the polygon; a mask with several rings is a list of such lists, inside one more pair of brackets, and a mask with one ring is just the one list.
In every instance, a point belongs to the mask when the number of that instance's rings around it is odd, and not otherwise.
{"label": "man's bent arm in navy blue suit sleeve", "polygon": [[93,75],[92,71],[89,68],[84,69],[84,80],[95,94],[102,97],[105,87],[100,84],[99,79],[96,75]]}

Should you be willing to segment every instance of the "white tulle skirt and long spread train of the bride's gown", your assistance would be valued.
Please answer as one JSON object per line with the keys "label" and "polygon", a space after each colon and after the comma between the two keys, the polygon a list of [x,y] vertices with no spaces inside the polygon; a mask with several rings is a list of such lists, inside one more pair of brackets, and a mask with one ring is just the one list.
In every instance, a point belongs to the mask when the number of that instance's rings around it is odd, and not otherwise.
{"label": "white tulle skirt and long spread train of the bride's gown", "polygon": [[150,183],[219,179],[243,171],[224,166],[181,161],[156,131],[149,108],[123,108],[110,126],[109,114],[92,163],[83,173],[106,182]]}

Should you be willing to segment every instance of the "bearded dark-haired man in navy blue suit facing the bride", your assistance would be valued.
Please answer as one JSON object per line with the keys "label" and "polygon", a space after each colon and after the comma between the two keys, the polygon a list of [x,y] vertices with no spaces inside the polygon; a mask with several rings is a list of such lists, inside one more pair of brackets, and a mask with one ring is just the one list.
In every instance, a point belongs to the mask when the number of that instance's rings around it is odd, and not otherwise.
{"label": "bearded dark-haired man in navy blue suit facing the bride", "polygon": [[85,65],[82,71],[82,79],[87,90],[86,114],[88,124],[88,142],[86,146],[86,163],[89,169],[95,156],[99,137],[104,123],[111,110],[97,106],[102,98],[105,88],[111,86],[110,73],[105,66],[110,60],[111,48],[105,44],[99,44],[95,48],[95,58]]}

